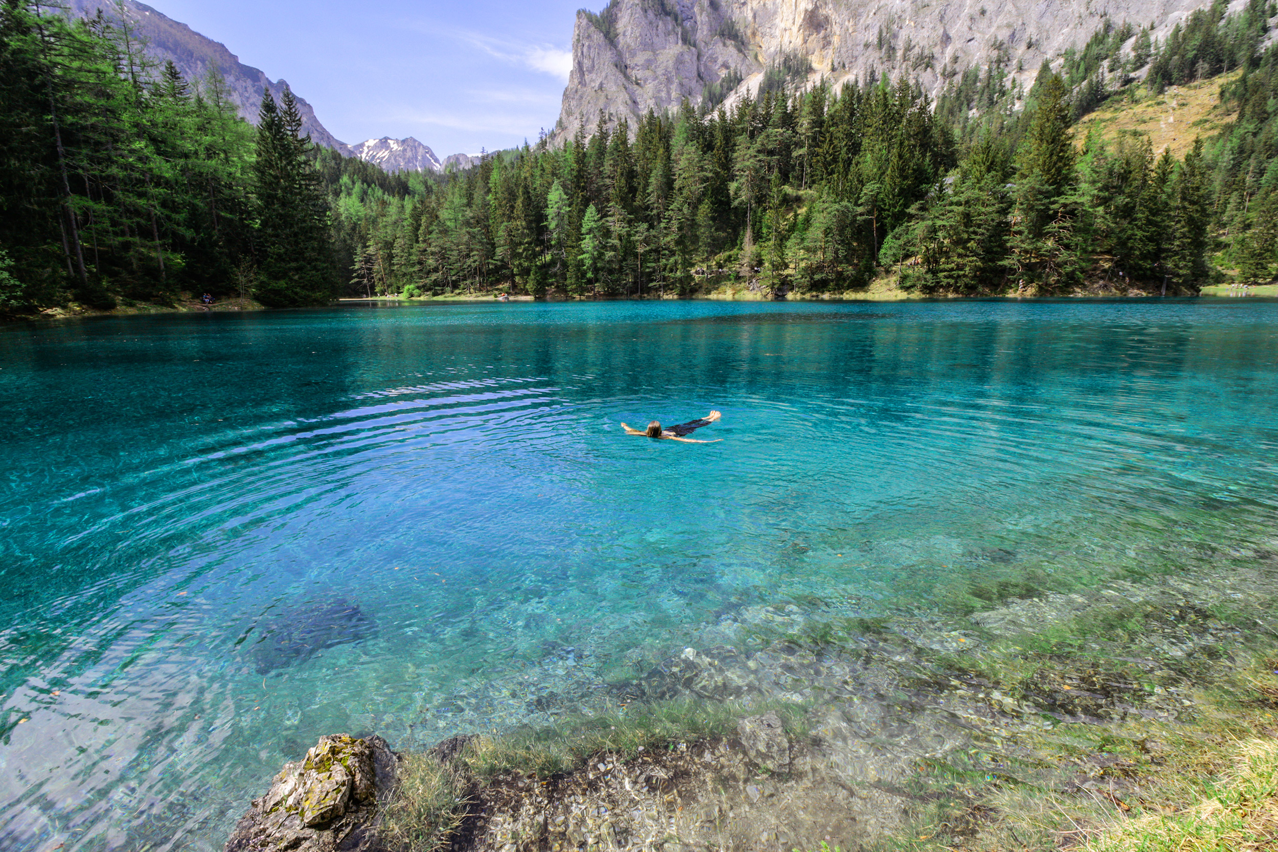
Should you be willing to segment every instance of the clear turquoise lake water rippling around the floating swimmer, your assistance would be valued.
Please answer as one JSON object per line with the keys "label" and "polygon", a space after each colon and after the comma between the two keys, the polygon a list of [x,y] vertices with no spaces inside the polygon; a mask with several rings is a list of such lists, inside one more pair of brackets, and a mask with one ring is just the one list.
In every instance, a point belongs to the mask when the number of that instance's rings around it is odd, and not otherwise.
{"label": "clear turquoise lake water rippling around the floating swimmer", "polygon": [[[0,847],[216,849],[320,734],[535,720],[751,602],[1272,543],[1275,359],[1260,300],[0,328]],[[258,673],[337,600],[376,635]]]}

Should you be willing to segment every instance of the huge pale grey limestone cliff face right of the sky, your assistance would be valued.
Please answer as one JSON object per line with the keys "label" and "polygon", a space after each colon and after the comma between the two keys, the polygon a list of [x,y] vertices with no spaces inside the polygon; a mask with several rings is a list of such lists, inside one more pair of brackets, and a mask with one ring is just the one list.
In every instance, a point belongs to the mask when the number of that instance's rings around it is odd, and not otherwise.
{"label": "huge pale grey limestone cliff face right of the sky", "polygon": [[[763,72],[790,57],[812,64],[809,80],[838,84],[887,72],[937,93],[946,77],[1003,55],[1033,82],[1044,59],[1081,47],[1108,15],[1153,23],[1166,37],[1206,0],[612,0],[578,13],[573,73],[556,139],[589,133],[649,109],[694,106],[758,91]],[[1241,5],[1237,4],[1236,5]],[[727,84],[727,86],[726,86]]]}

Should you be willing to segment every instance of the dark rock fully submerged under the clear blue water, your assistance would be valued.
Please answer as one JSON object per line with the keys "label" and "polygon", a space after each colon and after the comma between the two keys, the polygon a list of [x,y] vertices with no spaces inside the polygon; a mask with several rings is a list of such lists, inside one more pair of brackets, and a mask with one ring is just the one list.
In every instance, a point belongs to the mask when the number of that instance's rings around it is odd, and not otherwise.
{"label": "dark rock fully submerged under the clear blue water", "polygon": [[359,607],[334,600],[281,613],[261,625],[259,632],[252,657],[257,673],[267,674],[326,648],[368,639],[377,632],[377,622]]}

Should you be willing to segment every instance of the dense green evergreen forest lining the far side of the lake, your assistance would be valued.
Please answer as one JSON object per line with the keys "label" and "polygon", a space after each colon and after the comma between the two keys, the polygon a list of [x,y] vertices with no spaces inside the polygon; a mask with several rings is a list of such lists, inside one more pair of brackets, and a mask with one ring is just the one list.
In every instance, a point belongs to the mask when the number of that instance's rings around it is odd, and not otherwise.
{"label": "dense green evergreen forest lining the far side of the lake", "polygon": [[[1005,52],[907,78],[796,86],[606,116],[445,175],[389,175],[257,126],[220,78],[148,63],[125,24],[0,10],[0,309],[252,295],[1194,293],[1278,273],[1278,47],[1268,0],[1194,13],[1166,42],[1109,23],[1029,89]],[[1229,74],[1235,118],[1180,160],[1077,121],[1113,98]]]}

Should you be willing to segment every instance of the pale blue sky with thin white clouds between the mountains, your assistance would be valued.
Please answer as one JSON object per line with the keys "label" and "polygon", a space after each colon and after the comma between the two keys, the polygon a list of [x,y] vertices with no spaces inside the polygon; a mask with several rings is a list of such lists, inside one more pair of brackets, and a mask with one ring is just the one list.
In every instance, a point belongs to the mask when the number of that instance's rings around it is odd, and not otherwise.
{"label": "pale blue sky with thin white clouds between the mountains", "polygon": [[[143,0],[284,78],[343,142],[441,157],[535,142],[558,118],[581,0]],[[599,8],[604,0],[587,4]]]}

